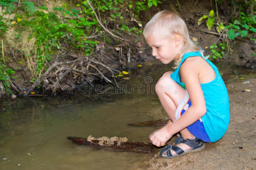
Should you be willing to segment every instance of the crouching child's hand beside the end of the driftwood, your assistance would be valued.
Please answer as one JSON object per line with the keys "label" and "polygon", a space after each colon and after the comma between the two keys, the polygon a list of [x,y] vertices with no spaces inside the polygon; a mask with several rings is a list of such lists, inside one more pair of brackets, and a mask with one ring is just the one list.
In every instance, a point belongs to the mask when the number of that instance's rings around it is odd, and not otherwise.
{"label": "crouching child's hand beside the end of the driftwood", "polygon": [[166,126],[154,131],[149,138],[153,145],[160,147],[166,145],[166,142],[172,137]]}

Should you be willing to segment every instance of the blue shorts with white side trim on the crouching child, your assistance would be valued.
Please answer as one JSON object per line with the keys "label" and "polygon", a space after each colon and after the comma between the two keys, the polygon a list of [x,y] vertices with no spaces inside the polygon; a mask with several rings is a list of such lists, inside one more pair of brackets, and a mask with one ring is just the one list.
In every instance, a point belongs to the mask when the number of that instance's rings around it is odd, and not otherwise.
{"label": "blue shorts with white side trim on the crouching child", "polygon": [[[185,97],[180,102],[179,106],[177,107],[177,110],[176,110],[176,113],[175,113],[176,119],[180,118],[180,116],[182,114],[184,114],[189,107],[191,107],[191,101],[189,99],[188,92],[186,90]],[[203,124],[203,121],[201,120],[201,118],[199,118],[199,120],[197,120],[195,123],[189,125],[187,127],[187,129],[196,138],[199,138],[204,142],[210,143],[210,139],[209,139],[208,134],[206,133],[206,131],[204,129],[204,124]]]}

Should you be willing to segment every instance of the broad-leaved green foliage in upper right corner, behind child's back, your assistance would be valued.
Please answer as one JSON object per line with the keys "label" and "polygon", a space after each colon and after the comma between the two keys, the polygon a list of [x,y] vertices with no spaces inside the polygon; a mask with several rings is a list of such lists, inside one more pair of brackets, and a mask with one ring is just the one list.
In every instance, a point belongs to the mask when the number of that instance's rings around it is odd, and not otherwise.
{"label": "broad-leaved green foliage in upper right corner, behind child's back", "polygon": [[[223,1],[215,0],[216,3],[216,9],[217,4],[222,3]],[[232,22],[228,23],[227,25],[224,25],[221,22],[221,19],[218,18],[218,11],[216,10],[217,14],[217,22],[214,23],[216,20],[214,20],[214,11],[211,10],[209,12],[209,15],[203,15],[198,21],[197,24],[200,25],[203,23],[205,19],[207,19],[207,28],[210,30],[213,25],[216,25],[217,32],[222,33],[221,35],[225,35],[224,39],[225,42],[222,42],[220,44],[213,44],[210,46],[210,52],[212,54],[210,55],[211,58],[222,58],[223,54],[225,54],[225,50],[228,52],[232,52],[232,49],[230,49],[229,41],[234,40],[237,36],[241,36],[242,38],[250,39],[256,42],[256,39],[253,37],[250,37],[250,34],[254,34],[256,32],[255,28],[255,19],[256,15],[253,8],[256,4],[256,1],[254,1],[254,4],[249,3],[249,1],[245,1],[246,3],[243,3],[242,1],[232,1],[233,8],[236,9],[236,11],[240,11],[240,15],[238,16],[232,16]],[[247,13],[243,12],[247,11]],[[248,12],[251,11],[251,12]],[[250,13],[250,14],[249,14]],[[234,12],[236,14],[236,12]],[[228,37],[226,39],[225,37]]]}

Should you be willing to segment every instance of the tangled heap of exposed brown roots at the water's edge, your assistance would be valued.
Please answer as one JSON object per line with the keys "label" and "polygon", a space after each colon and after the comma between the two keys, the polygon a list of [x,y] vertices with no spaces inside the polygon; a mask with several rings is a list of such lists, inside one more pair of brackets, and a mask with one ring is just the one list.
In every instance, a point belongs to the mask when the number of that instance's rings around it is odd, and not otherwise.
{"label": "tangled heap of exposed brown roots at the water's edge", "polygon": [[[52,94],[56,91],[72,91],[75,90],[77,85],[84,81],[92,83],[90,76],[98,76],[104,79],[106,83],[117,85],[115,79],[113,82],[104,74],[109,72],[114,77],[114,75],[120,71],[99,61],[99,59],[96,58],[98,52],[99,51],[96,51],[89,56],[68,54],[62,57],[65,58],[65,61],[61,61],[61,59],[56,60],[44,74],[35,80],[26,94],[30,94],[30,92],[40,84],[42,84],[44,92],[51,91]],[[67,58],[69,58],[68,61]],[[64,79],[65,81],[63,81]]]}

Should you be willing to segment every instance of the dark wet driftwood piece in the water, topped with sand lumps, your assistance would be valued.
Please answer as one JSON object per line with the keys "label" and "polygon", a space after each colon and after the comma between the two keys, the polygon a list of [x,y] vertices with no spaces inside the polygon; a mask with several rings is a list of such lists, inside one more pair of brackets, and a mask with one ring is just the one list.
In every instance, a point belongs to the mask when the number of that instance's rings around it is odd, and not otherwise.
{"label": "dark wet driftwood piece in the water, topped with sand lumps", "polygon": [[126,151],[126,152],[137,152],[143,154],[149,154],[154,145],[145,142],[120,142],[114,141],[113,145],[107,144],[108,141],[104,141],[103,145],[100,145],[98,140],[87,141],[87,138],[81,137],[67,137],[69,141],[72,141],[78,145],[86,145],[91,147],[104,148],[113,151]]}

